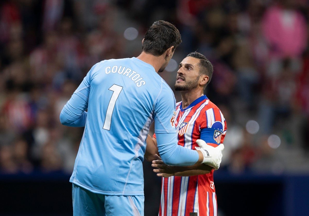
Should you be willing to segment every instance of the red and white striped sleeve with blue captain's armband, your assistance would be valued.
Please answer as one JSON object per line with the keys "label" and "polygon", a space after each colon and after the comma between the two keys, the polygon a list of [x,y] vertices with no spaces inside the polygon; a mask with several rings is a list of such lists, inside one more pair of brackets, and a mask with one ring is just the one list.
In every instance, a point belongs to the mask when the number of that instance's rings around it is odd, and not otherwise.
{"label": "red and white striped sleeve with blue captain's armband", "polygon": [[218,108],[211,108],[205,111],[201,121],[201,139],[211,146],[218,146],[223,143],[226,134],[226,120]]}

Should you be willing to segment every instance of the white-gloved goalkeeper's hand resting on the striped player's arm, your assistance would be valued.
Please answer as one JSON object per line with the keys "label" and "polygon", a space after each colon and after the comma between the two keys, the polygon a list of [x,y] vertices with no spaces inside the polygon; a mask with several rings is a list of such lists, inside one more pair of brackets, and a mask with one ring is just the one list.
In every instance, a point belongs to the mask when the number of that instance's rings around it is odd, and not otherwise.
{"label": "white-gloved goalkeeper's hand resting on the striped player's arm", "polygon": [[212,147],[207,145],[207,143],[202,139],[197,139],[196,143],[200,147],[195,147],[195,149],[201,151],[204,155],[202,164],[209,165],[217,170],[220,167],[224,145],[220,144],[217,147]]}

